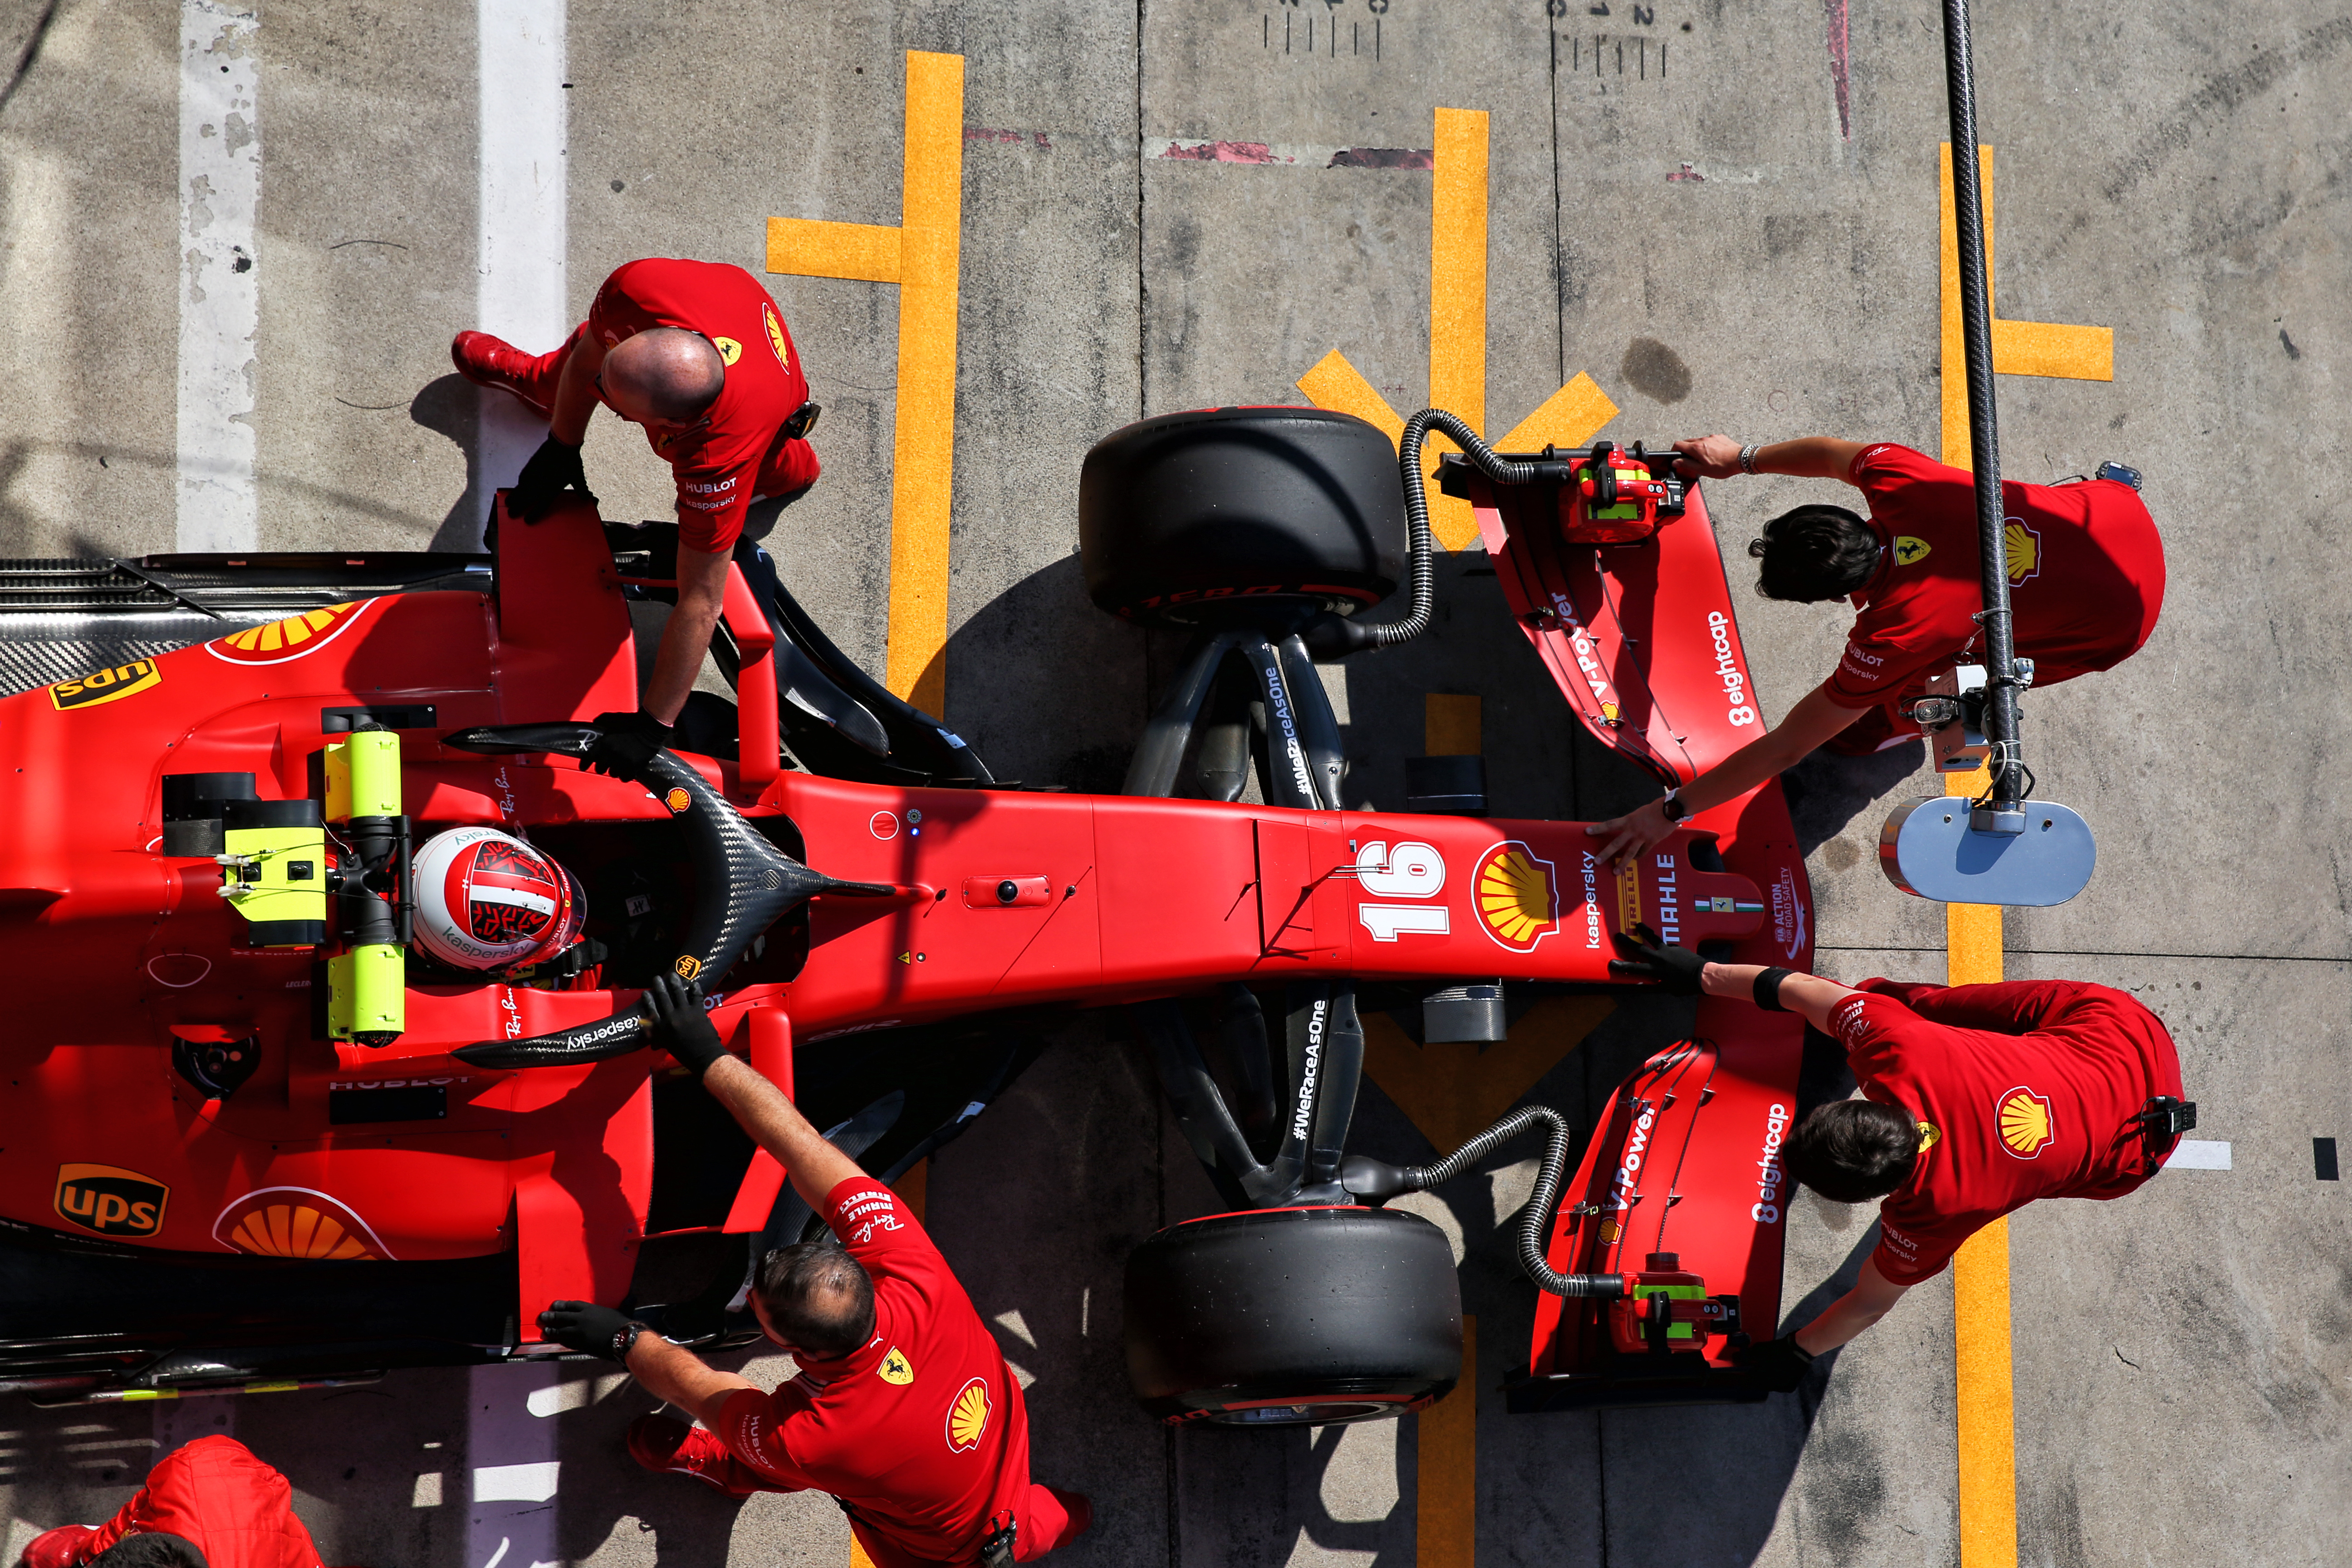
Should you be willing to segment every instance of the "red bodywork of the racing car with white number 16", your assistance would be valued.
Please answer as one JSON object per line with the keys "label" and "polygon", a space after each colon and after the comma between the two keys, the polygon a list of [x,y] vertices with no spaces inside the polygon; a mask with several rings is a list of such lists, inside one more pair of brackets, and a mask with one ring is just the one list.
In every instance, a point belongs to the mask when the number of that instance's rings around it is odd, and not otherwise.
{"label": "red bodywork of the racing car with white number 16", "polygon": [[[1661,538],[1672,550],[1705,541],[1705,527]],[[1712,541],[1705,569],[1722,581]],[[320,752],[336,738],[322,710],[353,705],[435,710],[430,729],[402,733],[419,844],[489,823],[562,856],[567,835],[668,820],[640,785],[569,759],[440,745],[475,724],[635,708],[623,585],[590,510],[501,529],[496,583],[496,599],[367,599],[179,649],[106,701],[61,703],[52,689],[0,701],[0,952],[16,1009],[0,1065],[16,1103],[42,1107],[0,1150],[0,1218],[191,1253],[426,1260],[513,1248],[524,1302],[621,1300],[652,1190],[649,1079],[666,1063],[630,1053],[494,1072],[449,1053],[607,1018],[637,992],[412,985],[395,1044],[336,1046],[313,1023],[315,957],[247,947],[216,896],[221,870],[162,856],[162,773],[252,771],[263,799],[315,797]],[[1759,912],[1764,882],[1691,870],[1689,832],[1621,886],[1592,863],[1578,823],[779,771],[774,745],[757,743],[776,733],[764,625],[743,592],[729,592],[727,614],[743,621],[746,762],[689,762],[746,816],[790,818],[816,870],[908,889],[818,898],[802,966],[779,971],[769,957],[731,976],[720,1032],[786,1088],[795,1034],[983,1009],[1294,976],[1604,983],[1625,898],[1653,924],[1672,914],[1684,943],[1776,940]],[[1776,795],[1748,802],[1757,825],[1743,844],[1762,842],[1766,802],[1778,811]],[[1748,820],[1733,811],[1693,827]],[[1773,820],[1785,839],[1785,816]],[[1011,903],[995,896],[1007,879]],[[174,1037],[254,1039],[261,1067],[207,1100],[174,1072]],[[442,1086],[447,1117],[339,1126],[329,1114],[336,1093],[407,1084]],[[755,1159],[724,1229],[757,1232],[781,1180],[771,1159]],[[75,1194],[118,1192],[122,1213],[68,1211],[71,1182]]]}

